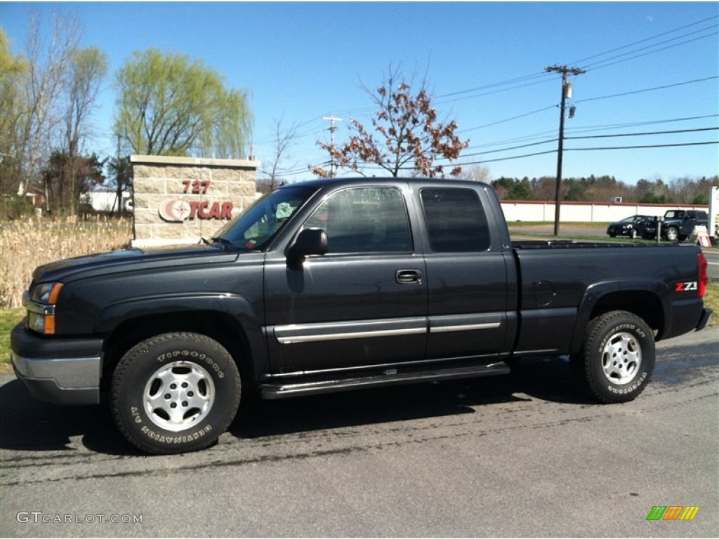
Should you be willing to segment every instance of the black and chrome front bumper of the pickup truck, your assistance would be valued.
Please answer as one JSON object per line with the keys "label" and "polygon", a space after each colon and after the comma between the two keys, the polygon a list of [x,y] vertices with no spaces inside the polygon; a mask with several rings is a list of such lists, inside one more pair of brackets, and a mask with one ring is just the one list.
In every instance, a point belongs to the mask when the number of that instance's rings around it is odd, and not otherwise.
{"label": "black and chrome front bumper of the pickup truck", "polygon": [[43,337],[21,323],[10,344],[15,374],[33,397],[61,405],[100,402],[102,339]]}

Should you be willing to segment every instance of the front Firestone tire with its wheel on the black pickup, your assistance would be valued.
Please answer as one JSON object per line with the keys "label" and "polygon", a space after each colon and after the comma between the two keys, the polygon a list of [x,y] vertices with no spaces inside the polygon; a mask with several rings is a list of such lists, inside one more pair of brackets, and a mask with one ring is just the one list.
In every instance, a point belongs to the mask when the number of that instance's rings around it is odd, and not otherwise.
{"label": "front Firestone tire with its wheel on the black pickup", "polygon": [[122,357],[110,403],[125,438],[160,455],[216,442],[237,413],[239,398],[237,365],[223,346],[198,333],[163,333]]}

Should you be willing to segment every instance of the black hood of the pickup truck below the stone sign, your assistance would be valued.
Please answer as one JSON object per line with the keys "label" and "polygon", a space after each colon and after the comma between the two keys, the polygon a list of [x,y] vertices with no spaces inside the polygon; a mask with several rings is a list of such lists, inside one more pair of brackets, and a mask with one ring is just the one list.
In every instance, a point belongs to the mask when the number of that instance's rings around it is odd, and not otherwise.
{"label": "black hood of the pickup truck below the stone sign", "polygon": [[211,245],[183,245],[180,247],[147,247],[120,249],[86,257],[75,257],[50,262],[35,268],[33,282],[60,280],[68,282],[87,274],[115,273],[191,264],[232,262],[238,253],[225,252]]}

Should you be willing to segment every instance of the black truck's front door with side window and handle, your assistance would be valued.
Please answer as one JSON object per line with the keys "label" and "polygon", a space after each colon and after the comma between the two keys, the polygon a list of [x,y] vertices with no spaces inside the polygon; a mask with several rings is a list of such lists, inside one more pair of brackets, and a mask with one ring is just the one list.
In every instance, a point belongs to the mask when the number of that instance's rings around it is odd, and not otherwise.
{"label": "black truck's front door with side window and handle", "polygon": [[268,253],[265,309],[275,373],[421,360],[427,286],[397,186],[342,188],[301,229],[322,229],[329,252],[288,267]]}

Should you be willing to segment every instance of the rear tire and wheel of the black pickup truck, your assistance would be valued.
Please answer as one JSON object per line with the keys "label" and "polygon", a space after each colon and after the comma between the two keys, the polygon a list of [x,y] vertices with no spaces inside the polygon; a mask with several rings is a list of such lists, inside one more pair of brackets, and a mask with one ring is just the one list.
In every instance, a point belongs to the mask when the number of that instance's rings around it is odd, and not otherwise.
{"label": "rear tire and wheel of the black pickup truck", "polygon": [[639,395],[654,371],[654,335],[633,313],[614,310],[592,320],[572,375],[585,392],[607,404]]}

